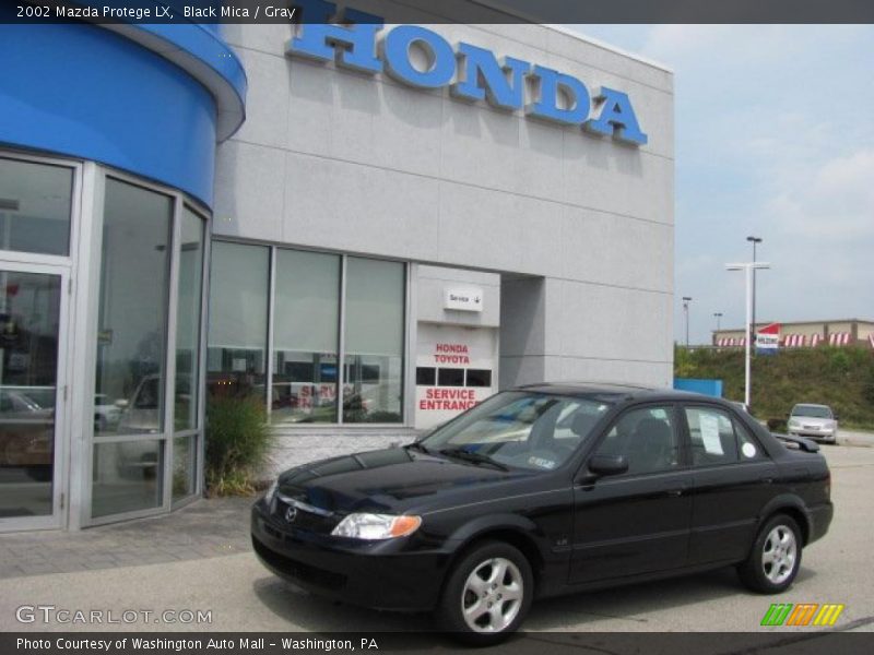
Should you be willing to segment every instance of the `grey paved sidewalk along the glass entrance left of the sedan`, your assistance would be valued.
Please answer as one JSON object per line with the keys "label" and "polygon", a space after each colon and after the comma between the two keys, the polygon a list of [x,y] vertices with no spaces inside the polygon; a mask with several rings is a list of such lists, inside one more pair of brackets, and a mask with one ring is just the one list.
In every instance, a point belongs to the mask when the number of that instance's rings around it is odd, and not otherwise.
{"label": "grey paved sidewalk along the glass entrance left of the sedan", "polygon": [[253,500],[202,499],[168,515],[79,532],[0,535],[0,580],[249,552]]}

